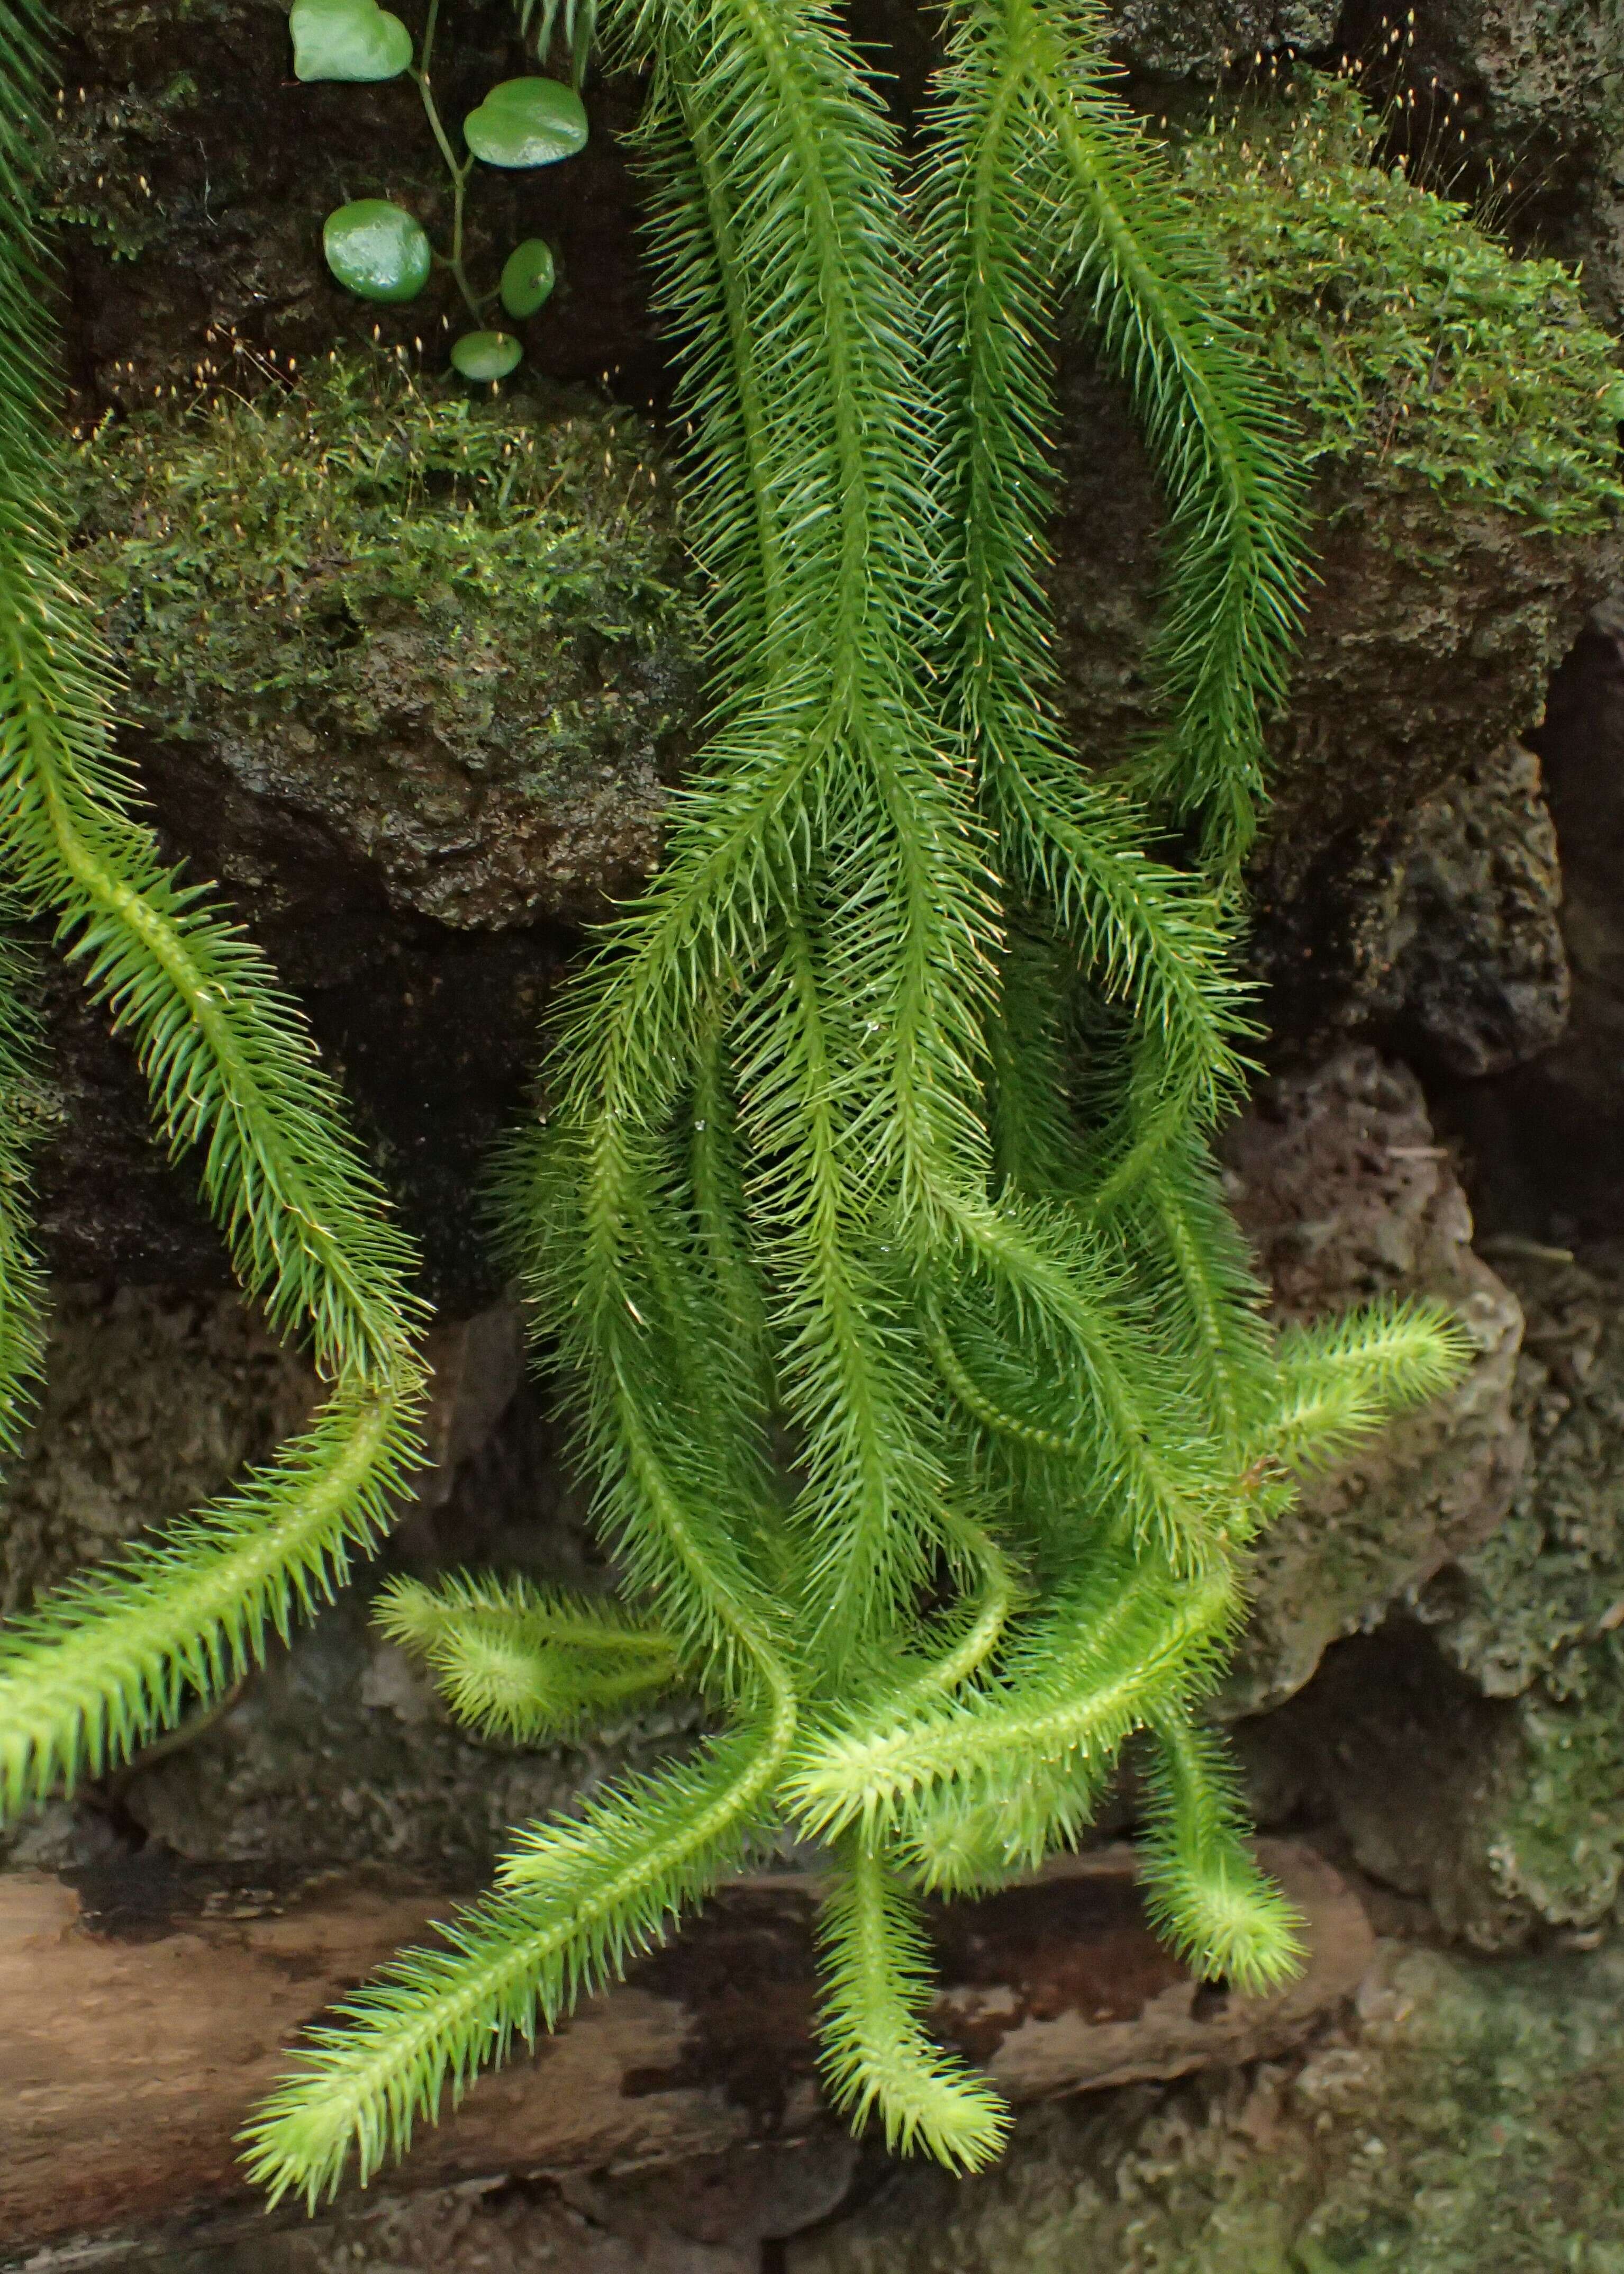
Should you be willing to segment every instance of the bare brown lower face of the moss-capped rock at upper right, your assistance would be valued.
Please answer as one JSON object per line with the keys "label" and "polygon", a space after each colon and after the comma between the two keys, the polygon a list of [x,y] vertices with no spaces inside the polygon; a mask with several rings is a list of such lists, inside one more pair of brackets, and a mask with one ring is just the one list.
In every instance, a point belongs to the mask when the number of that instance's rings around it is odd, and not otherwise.
{"label": "bare brown lower face of the moss-capped rock at upper right", "polygon": [[[1144,655],[1160,518],[1124,405],[1080,362],[1067,373],[1062,466],[1062,709],[1078,748],[1112,760],[1153,723]],[[1606,584],[1610,543],[1556,543],[1369,462],[1321,471],[1312,505],[1317,582],[1292,705],[1271,735],[1274,812],[1251,875],[1253,962],[1269,982],[1269,1026],[1296,1044],[1333,1028],[1337,1007],[1369,985],[1369,932],[1390,905],[1394,871],[1417,853],[1426,860],[1428,821],[1417,814],[1431,800],[1442,850],[1442,807],[1476,803],[1478,819],[1463,814],[1463,825],[1488,823],[1492,844],[1481,848],[1481,878],[1458,862],[1463,919],[1478,932],[1492,926],[1503,980],[1533,985],[1547,1003],[1517,1003],[1515,1012],[1506,1003],[1499,1016],[1533,1016],[1528,1028],[1510,1028],[1515,1041],[1492,1032],[1492,976],[1478,982],[1483,1003],[1463,1010],[1478,1026],[1488,1021],[1490,1053],[1542,1046],[1553,1039],[1560,989],[1551,910],[1542,905],[1549,848],[1538,807],[1517,812],[1531,785],[1503,778],[1499,753],[1542,716],[1547,680]],[[1463,1010],[1444,1007],[1437,976],[1419,960],[1412,969],[1422,1016],[1458,1023]]]}

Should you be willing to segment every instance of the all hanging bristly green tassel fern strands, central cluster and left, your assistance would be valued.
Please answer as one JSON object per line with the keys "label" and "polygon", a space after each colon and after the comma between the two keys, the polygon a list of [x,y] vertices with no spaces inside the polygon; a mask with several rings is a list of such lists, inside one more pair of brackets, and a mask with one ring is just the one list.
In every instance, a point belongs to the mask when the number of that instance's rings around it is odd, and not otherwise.
{"label": "all hanging bristly green tassel fern strands, central cluster and left", "polygon": [[[243,1280],[307,1321],[316,1435],[0,1660],[11,1806],[212,1694],[371,1539],[416,1394],[403,1251],[248,946],[157,871],[59,584],[39,82],[0,32],[5,839],[200,1142]],[[1171,1942],[1262,1987],[1294,1922],[1196,1712],[1244,1551],[1296,1471],[1444,1387],[1435,1310],[1269,1337],[1208,1130],[1237,1098],[1235,871],[1296,621],[1287,439],[1210,312],[1192,216],[1115,105],[1087,0],[971,0],[908,175],[814,0],[607,11],[691,418],[716,705],[664,866],[575,982],[503,1207],[598,1480],[625,1605],[396,1585],[384,1624],[516,1740],[680,1680],[691,1760],[519,1833],[496,1890],[312,2033],[248,2133],[314,2206],[407,2149],[514,2038],[662,1940],[782,1826],[830,1842],[823,2049],[853,2119],[996,2153],[923,2026],[919,1892],[996,1885],[1160,1760]],[[1174,528],[1167,728],[1089,780],[1051,712],[1049,343],[1124,373]],[[1149,850],[1185,825],[1203,869]],[[16,1201],[16,1178],[7,1194]],[[14,1378],[32,1364],[7,1230]],[[16,1323],[14,1323],[16,1321]]]}

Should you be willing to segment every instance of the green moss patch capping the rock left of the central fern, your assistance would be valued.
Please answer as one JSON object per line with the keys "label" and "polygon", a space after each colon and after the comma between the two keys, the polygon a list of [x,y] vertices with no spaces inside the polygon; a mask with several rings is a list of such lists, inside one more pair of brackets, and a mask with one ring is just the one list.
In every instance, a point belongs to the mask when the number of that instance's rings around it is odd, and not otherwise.
{"label": "green moss patch capping the rock left of the central fern", "polygon": [[175,723],[205,689],[371,707],[355,650],[380,612],[409,609],[473,678],[555,675],[685,616],[648,437],[598,407],[475,405],[334,357],[105,421],[73,473],[80,571],[136,703]]}

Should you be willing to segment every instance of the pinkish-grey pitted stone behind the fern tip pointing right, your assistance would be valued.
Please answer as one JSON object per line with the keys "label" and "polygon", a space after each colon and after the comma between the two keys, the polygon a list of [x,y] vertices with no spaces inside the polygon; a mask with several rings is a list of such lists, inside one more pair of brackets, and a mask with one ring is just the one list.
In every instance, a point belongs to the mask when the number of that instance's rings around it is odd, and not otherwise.
{"label": "pinkish-grey pitted stone behind the fern tip pointing right", "polygon": [[1224,1692],[1226,1712],[1262,1712],[1308,1680],[1328,1642],[1506,1514],[1524,1460],[1510,1412],[1522,1312],[1472,1253],[1472,1217],[1415,1076],[1374,1051],[1269,1082],[1224,1155],[1281,1319],[1437,1294],[1478,1351],[1449,1399],[1312,1483],[1265,1537]]}

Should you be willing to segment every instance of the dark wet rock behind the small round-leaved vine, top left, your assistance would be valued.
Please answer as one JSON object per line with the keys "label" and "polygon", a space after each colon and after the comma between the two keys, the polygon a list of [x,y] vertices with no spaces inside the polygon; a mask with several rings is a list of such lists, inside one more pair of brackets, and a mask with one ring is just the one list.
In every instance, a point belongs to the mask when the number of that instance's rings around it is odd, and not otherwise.
{"label": "dark wet rock behind the small round-leaved vine, top left", "polygon": [[[403,0],[414,34],[421,0]],[[450,277],[409,307],[355,300],[321,257],[321,223],[350,198],[409,205],[446,236],[450,186],[409,80],[382,86],[300,86],[284,0],[66,0],[59,11],[64,102],[57,209],[71,282],[71,375],[82,407],[125,409],[155,389],[187,387],[216,362],[262,373],[275,350],[309,362],[378,332],[434,362],[446,325],[462,330]],[[509,0],[466,0],[441,23],[434,84],[462,118],[484,91],[523,70]],[[646,287],[635,257],[635,198],[616,130],[637,114],[635,86],[600,86],[594,132],[569,166],[480,168],[469,200],[469,262],[494,275],[523,236],[546,236],[560,282],[523,325],[553,377],[616,375],[648,393]],[[146,186],[143,186],[146,184]],[[241,350],[241,352],[239,352]]]}

